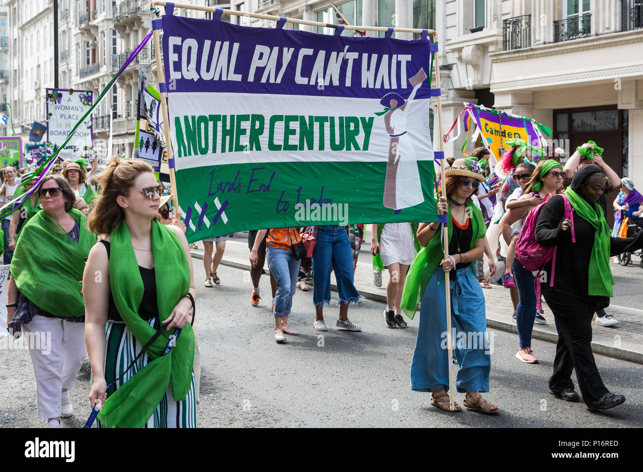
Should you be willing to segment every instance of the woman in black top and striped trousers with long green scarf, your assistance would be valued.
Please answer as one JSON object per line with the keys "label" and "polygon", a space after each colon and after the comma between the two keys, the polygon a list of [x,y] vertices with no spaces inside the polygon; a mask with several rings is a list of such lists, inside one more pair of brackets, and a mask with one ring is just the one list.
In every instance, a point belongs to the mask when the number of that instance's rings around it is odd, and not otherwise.
{"label": "woman in black top and striped trousers with long green scarf", "polygon": [[[149,164],[112,159],[98,179],[103,190],[89,229],[101,241],[83,278],[89,401],[102,405],[103,427],[194,428],[196,290],[188,241],[181,229],[156,221],[163,186]],[[175,328],[179,337],[164,355]]]}

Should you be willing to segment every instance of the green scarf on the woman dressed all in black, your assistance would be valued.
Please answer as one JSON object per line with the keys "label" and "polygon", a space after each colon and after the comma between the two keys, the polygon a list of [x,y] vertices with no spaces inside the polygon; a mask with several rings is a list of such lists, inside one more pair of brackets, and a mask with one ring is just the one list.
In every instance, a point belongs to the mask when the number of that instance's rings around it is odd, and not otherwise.
{"label": "green scarf on the woman dressed all in black", "polygon": [[565,194],[572,204],[574,213],[590,222],[596,230],[592,256],[590,257],[587,294],[611,297],[614,294],[611,288],[614,284],[614,277],[612,277],[610,269],[610,229],[603,218],[601,205],[598,202],[588,204],[571,187],[566,189]]}

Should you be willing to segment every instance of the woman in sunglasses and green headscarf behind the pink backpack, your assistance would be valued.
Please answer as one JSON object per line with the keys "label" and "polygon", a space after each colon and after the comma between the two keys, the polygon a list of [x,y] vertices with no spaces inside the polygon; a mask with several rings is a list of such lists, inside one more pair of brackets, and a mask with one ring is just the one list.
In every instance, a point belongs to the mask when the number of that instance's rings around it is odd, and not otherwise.
{"label": "woman in sunglasses and green headscarf behind the pink backpack", "polygon": [[[563,193],[563,177],[565,177],[565,173],[563,166],[559,162],[554,161],[554,159],[545,159],[538,162],[529,183],[525,186],[523,195],[518,198],[518,203],[525,203],[525,206],[507,209],[507,213],[500,220],[502,236],[507,245],[511,244],[512,236],[520,233],[520,229],[517,229],[518,232],[516,232],[516,228],[512,230],[511,225],[518,222],[518,220],[524,222],[527,213],[534,209],[535,206],[538,206],[541,199],[544,201],[547,195]],[[536,205],[534,206],[533,204]],[[516,307],[516,329],[518,329],[519,340],[516,358],[525,363],[536,364],[538,359],[531,349],[531,334],[534,330],[534,321],[537,316],[536,289],[534,288],[536,277],[530,270],[523,267],[518,258],[514,259],[512,270],[520,299]],[[540,317],[542,318],[541,323],[546,322],[542,315]]]}

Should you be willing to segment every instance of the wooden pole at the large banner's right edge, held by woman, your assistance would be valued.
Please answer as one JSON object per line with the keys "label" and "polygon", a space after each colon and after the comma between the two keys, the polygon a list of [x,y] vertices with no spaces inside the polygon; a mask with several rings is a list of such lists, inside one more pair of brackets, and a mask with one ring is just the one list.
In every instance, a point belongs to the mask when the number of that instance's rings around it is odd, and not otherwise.
{"label": "wooden pole at the large banner's right edge, held by woman", "polygon": [[[433,40],[437,42],[437,33],[433,33]],[[440,89],[440,63],[438,51],[433,53],[433,64],[435,64],[435,88]],[[440,152],[444,152],[444,140],[442,139],[442,98],[437,96],[438,101],[438,130],[439,130],[439,148]],[[446,159],[440,162],[440,179],[442,182],[442,195],[446,198],[446,179],[444,178],[444,166],[446,166]],[[444,246],[444,259],[449,257],[449,225],[444,223],[442,225],[442,245]],[[455,410],[455,401],[453,399],[455,391],[455,382],[453,381],[453,337],[451,335],[451,284],[449,283],[449,272],[444,272],[444,291],[446,294],[446,332],[447,332],[447,350],[448,358],[447,363],[449,367],[449,405],[450,409]]]}

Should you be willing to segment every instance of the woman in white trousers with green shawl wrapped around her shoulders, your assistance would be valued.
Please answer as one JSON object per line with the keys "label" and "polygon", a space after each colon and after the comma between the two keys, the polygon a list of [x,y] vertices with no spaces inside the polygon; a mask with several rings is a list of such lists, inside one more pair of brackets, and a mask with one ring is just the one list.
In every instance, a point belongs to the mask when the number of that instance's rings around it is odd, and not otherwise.
{"label": "woman in white trousers with green shawl wrapped around her shoulders", "polygon": [[78,282],[96,236],[73,209],[75,195],[64,177],[45,177],[38,197],[42,211],[24,224],[12,259],[7,319],[14,336],[21,326],[29,336],[38,415],[60,428],[60,416],[73,413],[68,389],[86,353]]}

